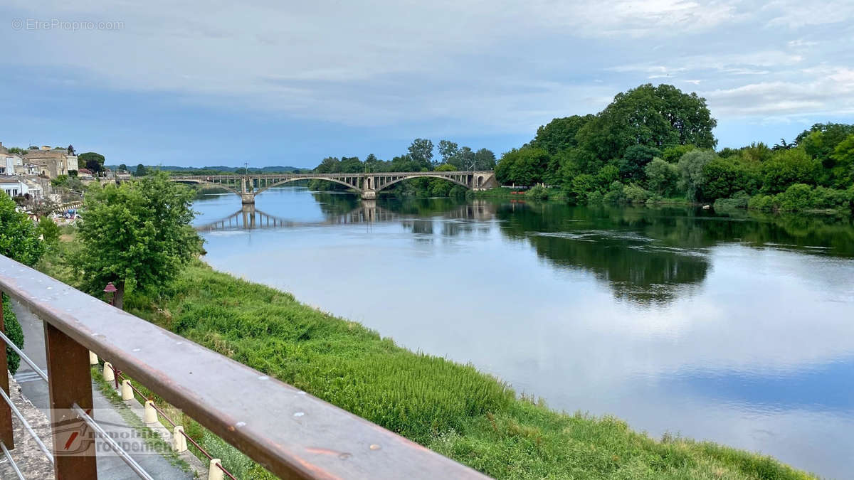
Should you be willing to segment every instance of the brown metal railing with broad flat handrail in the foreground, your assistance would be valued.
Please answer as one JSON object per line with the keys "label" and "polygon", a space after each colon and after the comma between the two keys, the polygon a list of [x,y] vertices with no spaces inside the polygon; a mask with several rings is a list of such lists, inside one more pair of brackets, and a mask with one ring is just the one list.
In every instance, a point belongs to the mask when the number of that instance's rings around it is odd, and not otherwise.
{"label": "brown metal railing with broad flat handrail in the foreground", "polygon": [[[0,290],[44,321],[48,371],[38,372],[49,383],[51,461],[57,478],[97,478],[94,445],[63,454],[70,427],[85,424],[98,431],[91,413],[90,352],[110,359],[116,369],[279,477],[483,478],[377,424],[2,255]],[[5,348],[0,348],[0,367],[6,369]],[[8,382],[0,380],[0,387],[8,396]],[[11,413],[9,405],[0,406],[4,450],[15,445]]]}

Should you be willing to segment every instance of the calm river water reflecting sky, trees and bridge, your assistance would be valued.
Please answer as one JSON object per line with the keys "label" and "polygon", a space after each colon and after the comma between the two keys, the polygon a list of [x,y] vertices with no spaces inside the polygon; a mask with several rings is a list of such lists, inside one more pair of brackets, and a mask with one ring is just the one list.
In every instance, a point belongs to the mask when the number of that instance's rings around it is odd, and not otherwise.
{"label": "calm river water reflecting sky, trees and bridge", "polygon": [[850,220],[301,187],[195,207],[215,268],[550,407],[854,477]]}

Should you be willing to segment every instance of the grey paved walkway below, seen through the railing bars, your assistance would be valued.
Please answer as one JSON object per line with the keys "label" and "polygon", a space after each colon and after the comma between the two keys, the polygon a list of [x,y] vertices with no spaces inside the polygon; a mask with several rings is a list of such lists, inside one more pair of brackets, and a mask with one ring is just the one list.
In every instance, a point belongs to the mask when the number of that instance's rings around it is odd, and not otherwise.
{"label": "grey paved walkway below, seen through the railing bars", "polygon": [[[12,309],[18,316],[21,329],[24,331],[24,353],[26,356],[43,370],[46,370],[47,361],[44,353],[44,325],[41,319],[30,313],[16,301],[12,301]],[[32,405],[48,414],[49,396],[48,385],[38,377],[23,360],[20,368],[15,373],[15,380],[20,384],[20,393],[32,402]],[[107,430],[115,440],[120,443],[137,443],[143,445],[138,438],[137,430],[128,425],[116,408],[108,401],[96,384],[92,384],[92,400],[95,407],[95,418],[104,430]],[[43,436],[43,441],[50,448],[50,438]],[[102,440],[97,441],[97,469],[98,478],[102,480],[119,480],[138,478],[124,461],[114,454],[103,454],[111,452],[108,445]],[[134,460],[142,465],[149,475],[155,478],[192,478],[189,473],[182,471],[178,466],[172,465],[169,460],[155,453],[139,453],[128,449]],[[2,452],[0,452],[2,455]],[[26,471],[24,472],[26,475]],[[36,478],[36,477],[33,477]]]}

